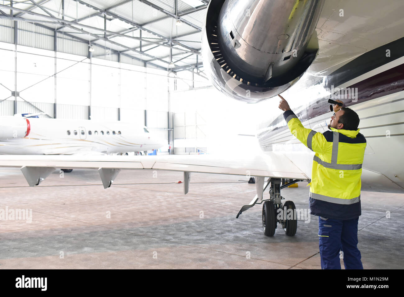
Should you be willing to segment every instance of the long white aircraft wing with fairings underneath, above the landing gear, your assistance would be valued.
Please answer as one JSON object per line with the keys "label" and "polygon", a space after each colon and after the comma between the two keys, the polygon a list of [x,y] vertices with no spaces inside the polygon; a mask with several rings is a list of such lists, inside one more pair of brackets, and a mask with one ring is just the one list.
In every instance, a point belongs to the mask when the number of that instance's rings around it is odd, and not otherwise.
{"label": "long white aircraft wing with fairings underneath, above the landing gear", "polygon": [[[36,186],[56,168],[98,169],[105,188],[111,186],[120,169],[175,170],[184,172],[184,193],[190,172],[308,180],[307,175],[284,152],[251,155],[160,155],[80,156],[1,155],[0,167],[21,167],[30,186]],[[301,158],[298,158],[301,159]]]}

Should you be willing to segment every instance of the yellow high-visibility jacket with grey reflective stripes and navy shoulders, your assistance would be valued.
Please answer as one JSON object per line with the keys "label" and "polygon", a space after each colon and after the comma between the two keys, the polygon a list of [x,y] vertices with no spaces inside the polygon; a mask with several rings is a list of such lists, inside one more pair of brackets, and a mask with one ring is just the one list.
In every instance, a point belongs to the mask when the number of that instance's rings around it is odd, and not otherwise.
{"label": "yellow high-visibility jacket with grey reflective stripes and navy shoulders", "polygon": [[304,128],[293,111],[285,111],[290,132],[315,152],[311,169],[311,214],[349,220],[358,217],[366,139],[359,130]]}

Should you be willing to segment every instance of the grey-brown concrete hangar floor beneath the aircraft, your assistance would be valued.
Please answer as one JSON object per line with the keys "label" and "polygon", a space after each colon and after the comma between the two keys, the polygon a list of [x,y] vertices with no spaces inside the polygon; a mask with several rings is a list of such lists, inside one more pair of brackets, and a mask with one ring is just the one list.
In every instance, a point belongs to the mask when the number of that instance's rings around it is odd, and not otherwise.
{"label": "grey-brown concrete hangar floor beneath the aircraft", "polygon": [[[181,172],[122,170],[104,190],[96,170],[75,169],[30,188],[19,169],[1,168],[0,209],[32,209],[32,222],[0,221],[0,269],[320,269],[318,217],[299,221],[293,237],[279,225],[266,237],[261,205],[236,219],[255,195],[255,184],[239,179],[246,178],[191,174],[183,195],[175,183]],[[282,196],[308,208],[306,185]],[[402,268],[404,195],[362,192],[361,199],[364,268]]]}

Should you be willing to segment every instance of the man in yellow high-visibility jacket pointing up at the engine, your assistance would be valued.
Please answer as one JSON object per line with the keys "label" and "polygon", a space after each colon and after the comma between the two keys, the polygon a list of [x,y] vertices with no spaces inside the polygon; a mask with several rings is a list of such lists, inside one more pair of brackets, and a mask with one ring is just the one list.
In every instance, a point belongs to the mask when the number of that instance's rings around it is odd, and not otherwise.
{"label": "man in yellow high-visibility jacket pointing up at the engine", "polygon": [[[358,114],[334,105],[328,129],[324,133],[303,127],[282,99],[279,108],[290,132],[316,154],[310,183],[311,214],[318,215],[318,236],[322,269],[363,269],[358,250],[360,176],[366,139],[359,133]],[[340,100],[337,100],[341,102]]]}

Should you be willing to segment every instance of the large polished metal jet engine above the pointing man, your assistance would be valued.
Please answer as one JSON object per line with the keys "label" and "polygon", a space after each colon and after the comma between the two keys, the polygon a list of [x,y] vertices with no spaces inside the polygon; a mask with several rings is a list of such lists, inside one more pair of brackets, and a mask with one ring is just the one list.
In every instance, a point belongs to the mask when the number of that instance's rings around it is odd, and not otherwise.
{"label": "large polished metal jet engine above the pointing man", "polygon": [[232,98],[259,102],[295,84],[318,53],[314,29],[323,4],[211,0],[202,54],[213,85]]}

